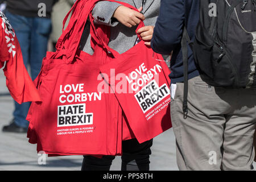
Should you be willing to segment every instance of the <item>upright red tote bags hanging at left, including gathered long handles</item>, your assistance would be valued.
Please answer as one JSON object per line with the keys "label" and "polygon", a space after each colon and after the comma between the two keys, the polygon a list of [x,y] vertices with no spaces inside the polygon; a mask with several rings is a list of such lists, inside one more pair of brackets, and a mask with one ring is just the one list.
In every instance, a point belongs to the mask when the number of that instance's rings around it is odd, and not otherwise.
{"label": "upright red tote bags hanging at left, including gathered long handles", "polygon": [[94,55],[79,50],[86,19],[96,2],[77,0],[57,51],[47,53],[35,80],[42,102],[31,104],[27,137],[38,144],[38,151],[52,156],[121,154],[121,107],[114,93],[98,91],[105,82],[100,66],[111,59],[97,40],[93,40]]}

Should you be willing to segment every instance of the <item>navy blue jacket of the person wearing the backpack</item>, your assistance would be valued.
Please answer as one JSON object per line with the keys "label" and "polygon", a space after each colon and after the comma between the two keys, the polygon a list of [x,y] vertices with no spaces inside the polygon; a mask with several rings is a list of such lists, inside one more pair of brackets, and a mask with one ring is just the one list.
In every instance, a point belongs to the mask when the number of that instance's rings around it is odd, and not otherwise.
{"label": "navy blue jacket of the person wearing the backpack", "polygon": [[[183,59],[181,52],[181,36],[184,25],[188,35],[195,39],[195,31],[199,22],[199,0],[161,0],[159,18],[155,24],[151,47],[155,52],[167,55],[172,53],[172,83],[183,82]],[[199,75],[193,54],[188,46],[188,78]]]}

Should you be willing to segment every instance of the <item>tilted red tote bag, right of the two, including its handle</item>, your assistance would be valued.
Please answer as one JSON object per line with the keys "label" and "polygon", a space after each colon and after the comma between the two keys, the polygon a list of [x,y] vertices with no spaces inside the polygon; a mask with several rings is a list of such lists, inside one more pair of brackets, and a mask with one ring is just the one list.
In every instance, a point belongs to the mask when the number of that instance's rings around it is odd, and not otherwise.
{"label": "tilted red tote bag, right of the two, including its handle", "polygon": [[[118,3],[137,10],[126,3]],[[138,28],[143,26],[141,22]],[[154,53],[143,40],[121,55],[101,42],[115,57],[101,65],[101,73],[108,75],[105,80],[114,90],[138,142],[150,140],[170,129],[170,69],[160,61],[162,55]]]}

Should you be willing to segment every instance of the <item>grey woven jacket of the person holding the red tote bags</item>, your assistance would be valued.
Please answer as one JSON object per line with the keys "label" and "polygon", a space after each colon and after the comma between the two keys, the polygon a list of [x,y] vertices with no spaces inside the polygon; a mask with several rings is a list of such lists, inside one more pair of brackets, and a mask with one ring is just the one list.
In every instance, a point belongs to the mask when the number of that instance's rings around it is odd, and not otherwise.
{"label": "grey woven jacket of the person holding the red tote bags", "polygon": [[[134,7],[141,7],[141,0],[119,0],[122,2],[129,3]],[[112,15],[118,6],[121,6],[115,2],[102,1],[98,2],[93,9],[94,23],[106,24],[111,26],[111,36],[109,41],[109,47],[113,48],[119,53],[126,52],[128,49],[134,46],[135,41],[137,40],[137,35],[135,30],[137,27],[126,27],[121,23],[113,22]],[[145,26],[154,26],[156,19],[159,15],[160,0],[147,0],[142,13],[146,17],[144,20]],[[81,39],[81,49],[90,55],[93,54],[93,50],[90,47],[90,35],[89,35],[88,24],[85,27],[84,35]]]}

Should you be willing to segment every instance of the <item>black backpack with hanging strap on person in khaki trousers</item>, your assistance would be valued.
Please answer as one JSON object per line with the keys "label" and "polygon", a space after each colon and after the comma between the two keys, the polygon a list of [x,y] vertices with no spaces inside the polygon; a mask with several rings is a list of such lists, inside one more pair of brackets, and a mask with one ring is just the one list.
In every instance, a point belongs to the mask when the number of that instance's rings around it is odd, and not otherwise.
{"label": "black backpack with hanging strap on person in khaki trousers", "polygon": [[213,86],[256,86],[256,0],[201,0],[200,20],[192,43],[184,27],[184,117],[187,115],[188,53],[193,51],[200,75]]}

